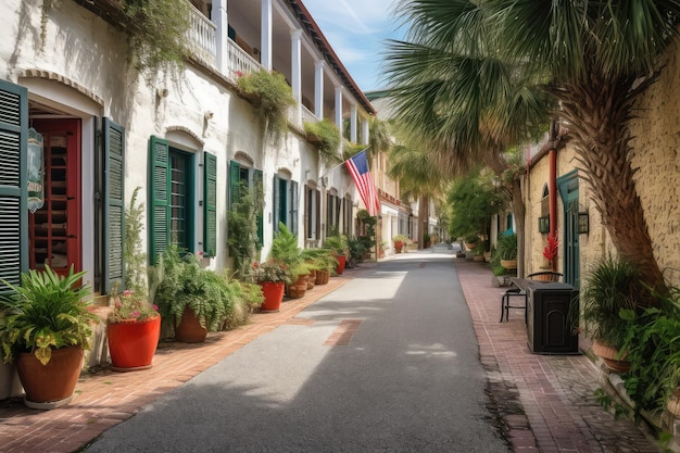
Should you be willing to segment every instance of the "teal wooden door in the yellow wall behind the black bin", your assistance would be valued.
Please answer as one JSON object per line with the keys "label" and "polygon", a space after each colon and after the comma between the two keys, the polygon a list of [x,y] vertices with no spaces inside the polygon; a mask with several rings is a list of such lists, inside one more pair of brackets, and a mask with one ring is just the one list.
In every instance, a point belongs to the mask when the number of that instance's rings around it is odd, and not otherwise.
{"label": "teal wooden door in the yellow wall behind the black bin", "polygon": [[564,231],[562,243],[564,247],[564,281],[580,288],[580,255],[579,255],[579,178],[576,171],[557,178],[557,188],[564,206]]}

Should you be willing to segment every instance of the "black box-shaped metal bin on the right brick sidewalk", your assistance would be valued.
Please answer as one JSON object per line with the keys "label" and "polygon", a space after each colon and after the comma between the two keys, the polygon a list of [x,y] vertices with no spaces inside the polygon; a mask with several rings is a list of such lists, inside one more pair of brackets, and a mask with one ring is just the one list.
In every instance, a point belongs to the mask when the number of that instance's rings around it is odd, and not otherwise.
{"label": "black box-shaped metal bin on the right brick sidewalk", "polygon": [[527,336],[534,354],[578,354],[579,293],[571,285],[527,281]]}

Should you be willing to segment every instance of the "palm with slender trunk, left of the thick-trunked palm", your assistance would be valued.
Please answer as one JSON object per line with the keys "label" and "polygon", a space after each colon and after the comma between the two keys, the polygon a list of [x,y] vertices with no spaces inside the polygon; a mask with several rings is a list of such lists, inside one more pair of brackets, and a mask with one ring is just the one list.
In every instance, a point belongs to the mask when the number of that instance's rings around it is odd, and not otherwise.
{"label": "palm with slender trunk, left of the thick-trunked palm", "polygon": [[[445,4],[444,4],[445,3]],[[450,4],[451,3],[451,4]],[[465,3],[461,11],[452,8]],[[437,4],[439,9],[428,5]],[[442,11],[449,12],[449,15]],[[512,144],[536,140],[546,129],[550,99],[521,64],[508,64],[491,38],[481,40],[483,15],[463,1],[412,1],[404,10],[412,41],[391,41],[387,76],[396,118],[448,175],[489,166],[506,180]],[[453,14],[467,15],[464,18]],[[455,18],[456,21],[454,21]],[[518,262],[524,263],[525,206],[519,181],[507,180],[517,222]],[[518,268],[519,275],[524,269]]]}

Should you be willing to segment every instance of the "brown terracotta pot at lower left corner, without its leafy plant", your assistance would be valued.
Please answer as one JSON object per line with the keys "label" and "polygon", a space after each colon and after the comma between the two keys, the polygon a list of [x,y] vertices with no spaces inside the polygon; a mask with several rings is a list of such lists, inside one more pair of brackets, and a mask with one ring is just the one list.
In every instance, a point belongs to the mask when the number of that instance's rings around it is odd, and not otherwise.
{"label": "brown terracotta pot at lower left corner, without its leafy plant", "polygon": [[24,403],[33,408],[56,408],[67,404],[81,368],[81,347],[52,350],[47,365],[42,365],[32,352],[18,354],[16,373],[26,391]]}

